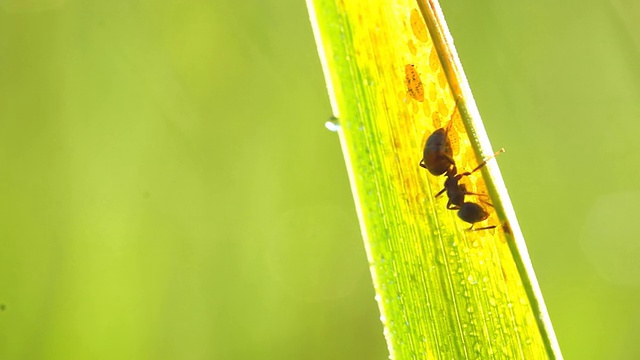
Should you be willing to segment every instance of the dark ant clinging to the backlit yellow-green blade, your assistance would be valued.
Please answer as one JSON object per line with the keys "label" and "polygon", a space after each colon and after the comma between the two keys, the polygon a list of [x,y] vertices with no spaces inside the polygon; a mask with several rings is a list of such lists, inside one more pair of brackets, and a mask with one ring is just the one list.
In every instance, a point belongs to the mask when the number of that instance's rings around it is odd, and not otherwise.
{"label": "dark ant clinging to the backlit yellow-green blade", "polygon": [[[475,223],[486,220],[489,217],[489,213],[479,204],[465,201],[465,196],[486,195],[467,191],[466,186],[464,184],[460,184],[460,180],[463,177],[469,176],[484,167],[487,164],[487,161],[504,152],[504,149],[500,149],[498,152],[482,161],[482,163],[476,166],[475,169],[463,173],[458,173],[458,168],[455,164],[455,161],[453,160],[451,142],[449,141],[448,137],[448,132],[451,128],[452,122],[453,119],[449,122],[446,129],[440,128],[434,131],[429,136],[429,138],[427,138],[427,142],[424,146],[423,158],[420,161],[420,166],[427,169],[433,175],[440,176],[444,174],[446,176],[447,179],[444,182],[444,188],[436,194],[436,197],[439,197],[444,192],[447,193],[447,196],[449,197],[449,201],[447,201],[447,209],[458,210],[458,217],[461,220],[471,224],[471,227],[467,229],[468,231],[493,229],[496,227],[495,225],[479,229],[473,228]],[[481,201],[489,206],[493,206],[487,201]]]}

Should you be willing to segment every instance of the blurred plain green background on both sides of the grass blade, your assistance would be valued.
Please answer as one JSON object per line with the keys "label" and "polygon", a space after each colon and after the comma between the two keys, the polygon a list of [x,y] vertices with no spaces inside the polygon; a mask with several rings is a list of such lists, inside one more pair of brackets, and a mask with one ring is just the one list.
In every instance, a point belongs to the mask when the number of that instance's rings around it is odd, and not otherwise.
{"label": "blurred plain green background on both sides of the grass blade", "polygon": [[[640,5],[442,3],[567,358],[640,357]],[[302,1],[0,0],[0,359],[385,359]]]}

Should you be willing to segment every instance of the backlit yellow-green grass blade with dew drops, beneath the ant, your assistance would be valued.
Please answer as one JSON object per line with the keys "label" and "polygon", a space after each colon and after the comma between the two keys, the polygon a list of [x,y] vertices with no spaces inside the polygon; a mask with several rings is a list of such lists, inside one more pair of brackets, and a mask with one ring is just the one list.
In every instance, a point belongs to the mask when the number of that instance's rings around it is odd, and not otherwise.
{"label": "backlit yellow-green grass blade with dew drops, beneath the ant", "polygon": [[493,154],[437,2],[308,7],[391,358],[561,358],[496,160],[463,178],[480,231],[418,166],[449,124],[460,172]]}

